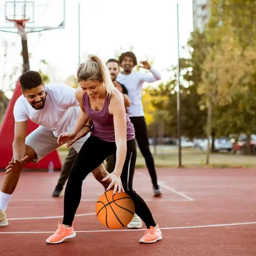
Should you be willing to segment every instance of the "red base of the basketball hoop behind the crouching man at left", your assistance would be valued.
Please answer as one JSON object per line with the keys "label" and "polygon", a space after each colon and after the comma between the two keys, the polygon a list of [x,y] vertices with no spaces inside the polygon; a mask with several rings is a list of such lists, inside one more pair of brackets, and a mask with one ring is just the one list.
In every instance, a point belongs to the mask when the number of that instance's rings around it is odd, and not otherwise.
{"label": "red base of the basketball hoop behind the crouching man at left", "polygon": [[[21,95],[20,81],[17,82],[16,88],[14,90],[12,99],[10,100],[6,113],[4,115],[4,121],[0,126],[0,168],[5,168],[10,160],[12,159],[12,141],[14,137],[14,117],[13,117],[13,107],[16,100]],[[27,125],[27,135],[34,131],[38,127],[38,124],[33,123],[28,119]],[[49,155],[41,159],[37,164],[29,162],[25,165],[26,169],[48,169],[49,162],[52,161],[54,169],[61,169],[60,156],[57,150],[52,151]]]}

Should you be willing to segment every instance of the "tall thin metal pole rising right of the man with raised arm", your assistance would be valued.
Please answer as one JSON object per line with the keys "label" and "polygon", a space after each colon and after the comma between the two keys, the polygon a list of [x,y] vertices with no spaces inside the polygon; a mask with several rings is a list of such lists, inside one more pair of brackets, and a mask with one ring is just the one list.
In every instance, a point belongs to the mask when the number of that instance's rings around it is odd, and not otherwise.
{"label": "tall thin metal pole rising right of the man with raised arm", "polygon": [[178,65],[177,65],[177,75],[178,75],[178,92],[177,92],[177,124],[178,124],[178,158],[179,165],[181,167],[181,145],[180,145],[180,137],[181,137],[181,121],[180,121],[180,38],[179,38],[179,4],[177,3],[177,36],[178,36]]}

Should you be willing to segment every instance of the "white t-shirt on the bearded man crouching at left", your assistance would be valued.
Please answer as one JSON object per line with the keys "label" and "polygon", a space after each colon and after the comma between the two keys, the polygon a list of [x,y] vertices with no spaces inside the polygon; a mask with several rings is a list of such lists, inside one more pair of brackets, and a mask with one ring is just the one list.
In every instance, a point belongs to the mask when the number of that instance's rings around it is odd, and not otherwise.
{"label": "white t-shirt on the bearded man crouching at left", "polygon": [[44,108],[35,109],[21,95],[15,102],[13,115],[15,122],[27,121],[28,118],[58,137],[62,132],[72,132],[80,112],[75,97],[75,89],[67,84],[54,83],[45,85],[46,100]]}

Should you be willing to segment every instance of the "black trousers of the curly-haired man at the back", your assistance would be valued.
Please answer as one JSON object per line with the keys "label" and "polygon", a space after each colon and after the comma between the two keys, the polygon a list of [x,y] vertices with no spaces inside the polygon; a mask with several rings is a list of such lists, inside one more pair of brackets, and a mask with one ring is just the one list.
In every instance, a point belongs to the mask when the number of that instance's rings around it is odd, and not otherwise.
{"label": "black trousers of the curly-haired man at the back", "polygon": [[145,117],[134,116],[130,117],[130,119],[135,130],[135,138],[138,142],[140,152],[142,156],[145,158],[145,162],[148,167],[148,172],[151,177],[152,184],[156,189],[158,189],[154,158],[149,149],[148,131]]}

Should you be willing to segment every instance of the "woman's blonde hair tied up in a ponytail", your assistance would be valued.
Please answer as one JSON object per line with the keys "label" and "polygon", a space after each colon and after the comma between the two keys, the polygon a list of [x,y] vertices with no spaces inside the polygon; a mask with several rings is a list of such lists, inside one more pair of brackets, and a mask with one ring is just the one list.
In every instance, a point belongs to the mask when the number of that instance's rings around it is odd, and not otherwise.
{"label": "woman's blonde hair tied up in a ponytail", "polygon": [[106,64],[95,55],[88,55],[87,61],[82,62],[77,69],[77,82],[88,80],[102,82],[107,96],[115,88]]}

